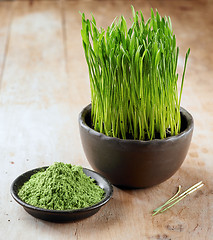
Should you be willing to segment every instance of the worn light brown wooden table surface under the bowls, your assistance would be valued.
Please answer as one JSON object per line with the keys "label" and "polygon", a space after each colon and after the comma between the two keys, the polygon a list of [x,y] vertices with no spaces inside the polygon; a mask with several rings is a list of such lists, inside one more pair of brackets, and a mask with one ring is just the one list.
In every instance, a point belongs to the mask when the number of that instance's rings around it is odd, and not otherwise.
{"label": "worn light brown wooden table surface under the bowls", "polygon": [[[12,181],[56,161],[91,168],[78,114],[90,102],[81,43],[81,17],[93,12],[106,27],[131,17],[130,4],[169,15],[180,46],[179,71],[191,54],[182,106],[194,117],[189,153],[180,170],[148,189],[114,188],[111,201],[83,221],[54,224],[27,214],[10,195]],[[213,239],[213,2],[212,1],[0,1],[0,239],[169,240]],[[205,186],[152,217],[181,184]]]}

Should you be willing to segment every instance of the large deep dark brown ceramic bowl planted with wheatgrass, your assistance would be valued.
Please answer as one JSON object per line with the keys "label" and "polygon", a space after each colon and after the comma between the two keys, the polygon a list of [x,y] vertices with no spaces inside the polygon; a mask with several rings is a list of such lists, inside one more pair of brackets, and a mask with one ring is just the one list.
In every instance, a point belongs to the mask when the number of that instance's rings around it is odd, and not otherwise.
{"label": "large deep dark brown ceramic bowl planted with wheatgrass", "polygon": [[181,108],[181,132],[149,141],[108,137],[91,126],[91,104],[79,115],[85,155],[92,168],[119,187],[145,188],[170,178],[183,163],[192,138],[194,122]]}

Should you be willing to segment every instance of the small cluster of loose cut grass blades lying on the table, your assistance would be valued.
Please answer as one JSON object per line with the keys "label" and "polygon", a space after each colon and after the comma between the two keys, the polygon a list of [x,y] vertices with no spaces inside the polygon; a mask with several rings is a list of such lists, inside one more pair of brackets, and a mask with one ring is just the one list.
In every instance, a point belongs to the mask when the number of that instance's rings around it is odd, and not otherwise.
{"label": "small cluster of loose cut grass blades lying on the table", "polygon": [[196,183],[195,185],[193,185],[192,187],[190,187],[189,189],[187,189],[185,192],[181,193],[180,195],[179,195],[179,193],[181,190],[181,186],[179,185],[177,193],[173,197],[171,197],[168,201],[166,201],[162,206],[153,210],[154,213],[152,214],[152,216],[154,216],[158,213],[165,212],[169,208],[173,207],[176,203],[180,202],[183,198],[185,198],[189,194],[193,193],[197,189],[201,188],[203,185],[204,184],[202,183],[202,181],[200,181],[199,183]]}

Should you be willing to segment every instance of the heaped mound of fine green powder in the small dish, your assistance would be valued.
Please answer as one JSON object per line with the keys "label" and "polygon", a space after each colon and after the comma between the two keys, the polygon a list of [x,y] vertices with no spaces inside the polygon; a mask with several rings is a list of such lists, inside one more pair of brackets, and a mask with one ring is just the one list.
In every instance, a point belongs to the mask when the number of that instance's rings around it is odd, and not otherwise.
{"label": "heaped mound of fine green powder in the small dish", "polygon": [[72,210],[92,206],[104,190],[86,176],[81,166],[54,163],[35,173],[18,192],[24,202],[45,209]]}

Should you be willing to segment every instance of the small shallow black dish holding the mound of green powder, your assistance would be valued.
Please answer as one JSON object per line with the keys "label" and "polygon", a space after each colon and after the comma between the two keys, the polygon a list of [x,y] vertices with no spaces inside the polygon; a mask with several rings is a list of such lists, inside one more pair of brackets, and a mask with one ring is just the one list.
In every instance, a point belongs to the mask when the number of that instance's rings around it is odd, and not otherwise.
{"label": "small shallow black dish holding the mound of green powder", "polygon": [[100,208],[104,204],[106,204],[112,197],[113,187],[110,184],[110,182],[106,178],[101,176],[99,173],[96,173],[87,168],[83,168],[84,173],[87,176],[95,179],[96,184],[105,191],[104,199],[101,202],[99,202],[91,207],[77,209],[77,210],[66,210],[66,211],[38,208],[38,207],[29,205],[29,204],[23,202],[18,197],[18,191],[19,191],[20,187],[26,181],[28,181],[33,174],[40,171],[41,169],[46,169],[46,168],[47,167],[42,167],[42,168],[36,168],[31,171],[28,171],[28,172],[20,175],[19,177],[17,177],[11,185],[10,191],[11,191],[12,197],[21,206],[23,206],[23,208],[33,217],[36,217],[36,218],[39,218],[39,219],[42,219],[45,221],[49,221],[49,222],[72,222],[72,221],[81,220],[81,219],[90,217],[93,214],[97,213],[100,210]]}

